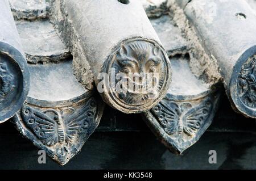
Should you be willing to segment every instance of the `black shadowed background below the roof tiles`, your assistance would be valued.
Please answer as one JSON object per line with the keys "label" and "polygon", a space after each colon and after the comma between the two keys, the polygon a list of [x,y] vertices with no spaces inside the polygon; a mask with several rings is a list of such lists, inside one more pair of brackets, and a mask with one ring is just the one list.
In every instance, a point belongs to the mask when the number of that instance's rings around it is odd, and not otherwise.
{"label": "black shadowed background below the roof tiles", "polygon": [[[234,113],[227,98],[212,126],[182,155],[174,155],[149,131],[139,115],[106,107],[100,127],[81,152],[65,166],[47,157],[38,163],[38,149],[10,121],[0,125],[0,169],[256,169],[255,121]],[[209,150],[217,164],[209,164]]]}

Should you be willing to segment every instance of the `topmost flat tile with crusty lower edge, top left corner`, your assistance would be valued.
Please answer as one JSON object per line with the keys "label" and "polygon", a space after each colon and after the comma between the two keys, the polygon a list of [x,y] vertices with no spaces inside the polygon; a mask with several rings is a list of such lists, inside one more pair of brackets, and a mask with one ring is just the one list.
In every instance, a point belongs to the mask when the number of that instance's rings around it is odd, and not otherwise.
{"label": "topmost flat tile with crusty lower edge, top left corner", "polygon": [[15,20],[44,19],[48,16],[49,0],[9,0]]}

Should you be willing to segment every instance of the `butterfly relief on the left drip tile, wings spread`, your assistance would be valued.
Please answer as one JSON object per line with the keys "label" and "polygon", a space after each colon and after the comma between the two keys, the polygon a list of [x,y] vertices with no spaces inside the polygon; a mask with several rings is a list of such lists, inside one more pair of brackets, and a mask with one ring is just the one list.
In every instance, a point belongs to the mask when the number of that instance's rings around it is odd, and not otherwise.
{"label": "butterfly relief on the left drip tile, wings spread", "polygon": [[[97,104],[90,99],[79,110],[69,108],[73,113],[63,116],[55,109],[39,111],[23,106],[22,119],[26,127],[46,146],[68,145],[88,136],[90,124],[97,116]],[[68,151],[67,147],[65,147]]]}

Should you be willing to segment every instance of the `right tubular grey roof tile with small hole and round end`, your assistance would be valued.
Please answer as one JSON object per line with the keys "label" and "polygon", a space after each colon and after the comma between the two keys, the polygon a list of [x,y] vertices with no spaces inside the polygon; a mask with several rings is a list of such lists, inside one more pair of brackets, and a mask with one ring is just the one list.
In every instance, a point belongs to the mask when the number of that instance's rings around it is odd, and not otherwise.
{"label": "right tubular grey roof tile with small hole and round end", "polygon": [[[213,4],[216,11],[211,11]],[[234,110],[255,118],[255,12],[243,0],[193,0],[183,9],[205,51],[217,62]]]}

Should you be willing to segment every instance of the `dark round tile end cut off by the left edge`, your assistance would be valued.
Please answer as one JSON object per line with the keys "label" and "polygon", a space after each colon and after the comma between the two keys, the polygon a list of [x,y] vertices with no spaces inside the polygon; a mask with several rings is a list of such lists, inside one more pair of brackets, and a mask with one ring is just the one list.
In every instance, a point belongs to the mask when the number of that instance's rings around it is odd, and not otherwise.
{"label": "dark round tile end cut off by the left edge", "polygon": [[18,49],[0,42],[0,123],[22,107],[29,87],[26,59]]}

